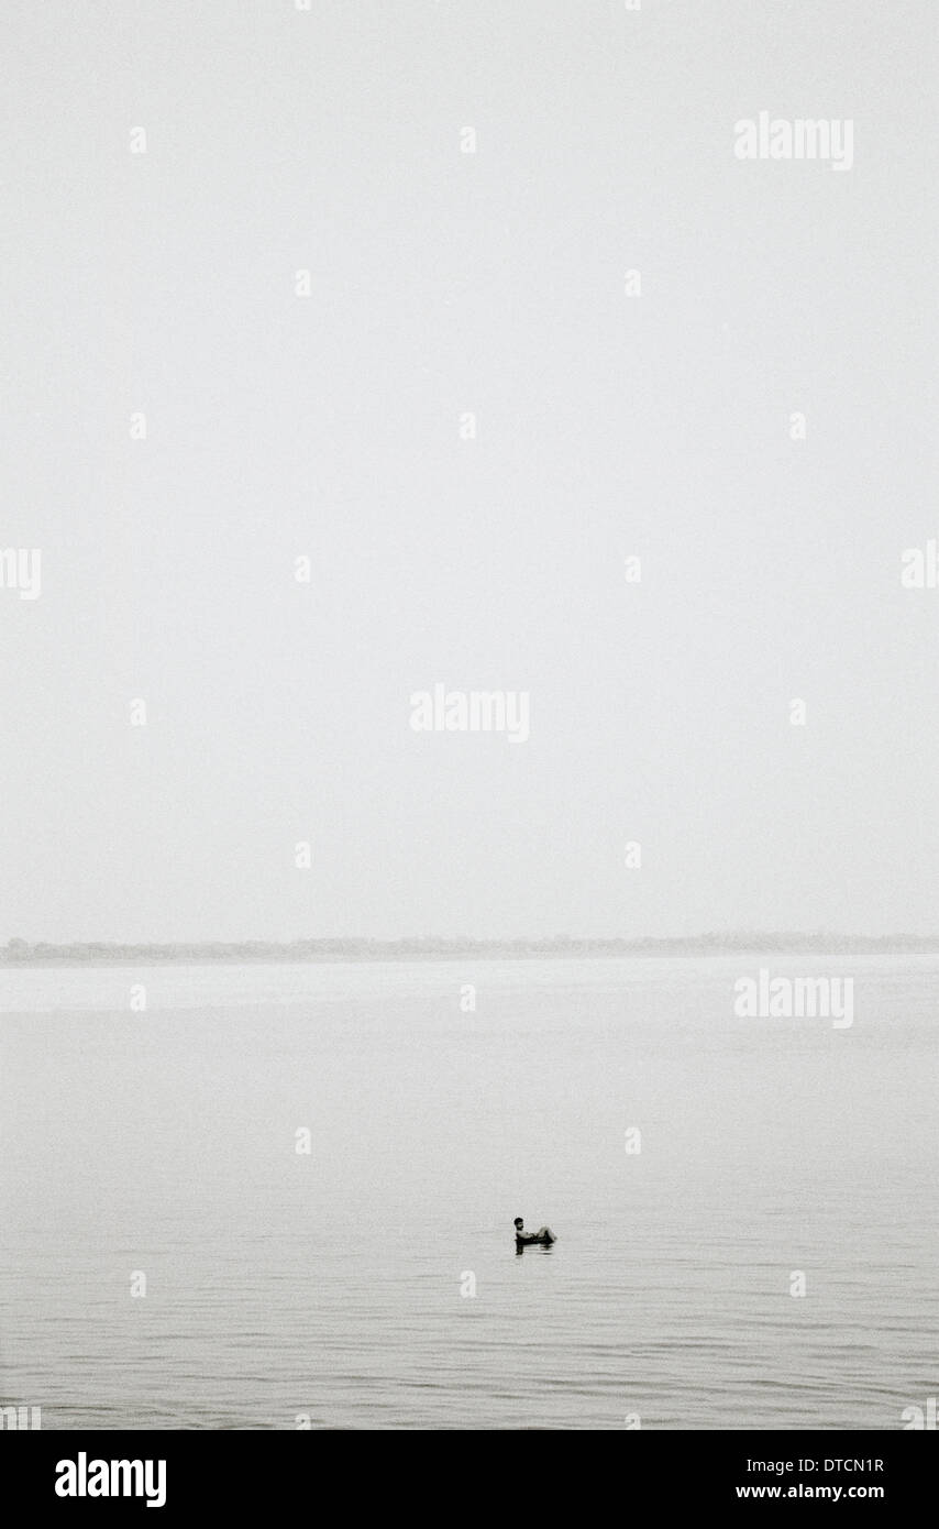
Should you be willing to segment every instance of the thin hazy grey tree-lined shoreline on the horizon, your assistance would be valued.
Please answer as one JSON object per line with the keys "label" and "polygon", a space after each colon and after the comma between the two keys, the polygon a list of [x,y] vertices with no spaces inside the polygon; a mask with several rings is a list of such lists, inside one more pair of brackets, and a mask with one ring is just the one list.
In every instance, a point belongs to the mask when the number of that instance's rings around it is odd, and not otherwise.
{"label": "thin hazy grey tree-lined shoreline on the horizon", "polygon": [[0,966],[323,965],[402,960],[618,960],[642,956],[936,956],[939,936],[702,934],[642,940],[251,940],[208,945],[31,945],[11,940]]}

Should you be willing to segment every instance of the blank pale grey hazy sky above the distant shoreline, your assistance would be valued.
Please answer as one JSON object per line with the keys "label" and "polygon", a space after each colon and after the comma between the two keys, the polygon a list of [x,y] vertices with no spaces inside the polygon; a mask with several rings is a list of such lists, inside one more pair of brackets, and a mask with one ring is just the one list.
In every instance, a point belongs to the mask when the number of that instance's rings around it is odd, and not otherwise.
{"label": "blank pale grey hazy sky above the distant shoreline", "polygon": [[0,940],[939,928],[936,31],[6,0]]}

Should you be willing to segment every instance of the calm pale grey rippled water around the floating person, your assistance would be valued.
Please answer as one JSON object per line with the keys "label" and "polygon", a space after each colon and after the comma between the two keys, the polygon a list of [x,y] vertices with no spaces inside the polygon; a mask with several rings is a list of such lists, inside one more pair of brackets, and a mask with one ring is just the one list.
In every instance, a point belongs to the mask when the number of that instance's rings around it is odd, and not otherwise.
{"label": "calm pale grey rippled water around the floating person", "polygon": [[[760,963],[853,976],[853,1026],[737,1018]],[[939,1394],[937,991],[936,957],[2,971],[0,1401],[899,1428]],[[518,1214],[557,1246],[517,1257]]]}

